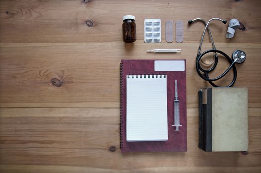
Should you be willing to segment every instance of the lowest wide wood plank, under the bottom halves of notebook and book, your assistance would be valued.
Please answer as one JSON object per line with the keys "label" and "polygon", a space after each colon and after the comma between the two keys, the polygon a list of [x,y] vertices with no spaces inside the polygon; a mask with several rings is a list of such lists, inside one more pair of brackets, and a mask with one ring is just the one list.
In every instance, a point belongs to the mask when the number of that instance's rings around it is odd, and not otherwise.
{"label": "lowest wide wood plank, under the bottom halves of notebook and book", "polygon": [[187,109],[188,152],[122,154],[119,109],[0,108],[0,171],[258,173],[261,109],[248,113],[247,155],[199,150],[196,108]]}

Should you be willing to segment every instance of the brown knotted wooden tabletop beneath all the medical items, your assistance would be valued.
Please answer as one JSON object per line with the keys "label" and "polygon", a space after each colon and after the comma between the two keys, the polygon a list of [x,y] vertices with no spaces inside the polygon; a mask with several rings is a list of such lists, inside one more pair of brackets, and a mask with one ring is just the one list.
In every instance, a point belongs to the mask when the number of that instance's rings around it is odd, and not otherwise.
{"label": "brown knotted wooden tabletop beneath all the medical items", "polygon": [[[88,0],[87,0],[88,1]],[[122,16],[136,17],[137,41],[122,41]],[[234,87],[249,92],[249,150],[207,153],[198,149],[198,89],[208,87],[195,69],[204,29],[197,17],[233,17],[210,28],[220,49],[246,52]],[[143,42],[145,18],[161,18],[162,42]],[[165,21],[184,21],[184,42],[165,42]],[[180,54],[147,49],[181,48]],[[211,48],[207,36],[203,49]],[[185,153],[126,153],[119,148],[121,59],[187,60]],[[216,72],[228,63],[221,59]],[[260,0],[1,0],[1,173],[210,173],[261,172]],[[228,84],[232,72],[218,84]],[[220,141],[222,142],[222,141]],[[114,151],[115,149],[115,151]]]}

